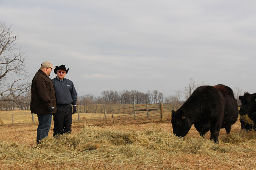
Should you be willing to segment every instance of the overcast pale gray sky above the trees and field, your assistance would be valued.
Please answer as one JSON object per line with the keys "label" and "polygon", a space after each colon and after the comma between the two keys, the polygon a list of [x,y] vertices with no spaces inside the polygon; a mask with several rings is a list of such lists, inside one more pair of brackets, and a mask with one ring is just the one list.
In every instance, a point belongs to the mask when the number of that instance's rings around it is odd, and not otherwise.
{"label": "overcast pale gray sky above the trees and field", "polygon": [[256,92],[255,0],[0,0],[0,20],[20,34],[33,76],[64,64],[78,96],[167,97],[189,78]]}

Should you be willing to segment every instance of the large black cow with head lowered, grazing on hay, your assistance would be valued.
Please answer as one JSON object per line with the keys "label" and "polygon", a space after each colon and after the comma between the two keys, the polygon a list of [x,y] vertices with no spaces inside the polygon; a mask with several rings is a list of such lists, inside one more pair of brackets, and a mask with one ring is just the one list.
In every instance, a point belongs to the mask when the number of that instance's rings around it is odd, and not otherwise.
{"label": "large black cow with head lowered, grazing on hay", "polygon": [[184,137],[194,124],[202,137],[210,130],[210,139],[218,144],[220,129],[225,128],[229,134],[237,118],[238,105],[232,89],[225,85],[204,85],[176,112],[172,110],[173,134]]}

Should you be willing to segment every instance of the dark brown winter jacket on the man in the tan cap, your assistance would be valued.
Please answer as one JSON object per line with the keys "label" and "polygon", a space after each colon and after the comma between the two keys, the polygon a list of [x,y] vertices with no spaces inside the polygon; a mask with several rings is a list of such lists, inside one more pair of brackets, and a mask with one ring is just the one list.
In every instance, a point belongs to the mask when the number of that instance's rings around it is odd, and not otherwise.
{"label": "dark brown winter jacket on the man in the tan cap", "polygon": [[[54,107],[52,112],[48,107]],[[38,70],[31,84],[30,111],[35,114],[56,113],[56,95],[52,79],[44,71]]]}

